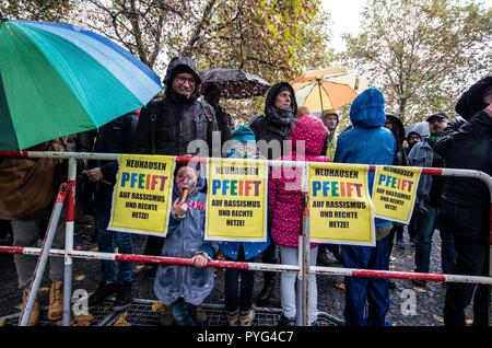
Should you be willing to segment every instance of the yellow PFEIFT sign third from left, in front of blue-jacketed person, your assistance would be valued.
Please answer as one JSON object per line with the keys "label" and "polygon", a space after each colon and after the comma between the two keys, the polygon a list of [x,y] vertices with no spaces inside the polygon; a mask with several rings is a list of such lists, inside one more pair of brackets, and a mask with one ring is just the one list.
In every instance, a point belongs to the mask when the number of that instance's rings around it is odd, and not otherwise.
{"label": "yellow PFEIFT sign third from left, in front of blue-jacketed person", "polygon": [[309,163],[308,194],[313,242],[376,245],[366,165]]}

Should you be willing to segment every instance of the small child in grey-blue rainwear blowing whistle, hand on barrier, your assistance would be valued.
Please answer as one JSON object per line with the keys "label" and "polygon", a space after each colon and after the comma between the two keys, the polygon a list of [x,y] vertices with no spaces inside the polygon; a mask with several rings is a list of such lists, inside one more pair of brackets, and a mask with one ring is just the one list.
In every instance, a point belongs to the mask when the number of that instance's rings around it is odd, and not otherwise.
{"label": "small child in grey-blue rainwear blowing whistle, hand on barrier", "polygon": [[[180,326],[195,326],[197,305],[213,290],[213,269],[204,268],[218,251],[216,244],[204,242],[204,179],[190,164],[175,171],[173,209],[162,256],[189,257],[194,266],[159,267],[154,292]],[[204,268],[204,269],[203,269]]]}

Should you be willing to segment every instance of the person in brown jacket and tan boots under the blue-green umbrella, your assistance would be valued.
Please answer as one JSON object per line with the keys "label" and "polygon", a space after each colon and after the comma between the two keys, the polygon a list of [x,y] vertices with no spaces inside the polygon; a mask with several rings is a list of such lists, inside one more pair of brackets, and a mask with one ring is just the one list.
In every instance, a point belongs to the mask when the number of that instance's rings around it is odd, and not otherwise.
{"label": "person in brown jacket and tan boots under the blue-green umbrella", "polygon": [[[73,136],[71,136],[73,137]],[[63,137],[49,142],[35,146],[28,151],[77,151],[77,143]],[[46,229],[46,218],[51,212],[59,185],[66,179],[67,171],[57,159],[4,159],[0,165],[0,218],[11,220],[13,232],[13,246],[37,247],[38,239]],[[25,172],[28,169],[28,172]],[[22,185],[19,179],[22,178]],[[15,195],[9,195],[9,187],[20,189]],[[10,200],[14,197],[16,201]],[[46,197],[46,199],[38,199]],[[65,230],[67,211],[63,207],[56,233],[52,248],[65,248]],[[15,254],[14,263],[17,272],[19,289],[22,291],[22,311],[27,304],[31,282],[34,279],[37,258],[32,255]],[[63,258],[49,258],[49,289],[48,320],[58,321],[63,314]],[[39,298],[34,302],[28,325],[39,322]]]}

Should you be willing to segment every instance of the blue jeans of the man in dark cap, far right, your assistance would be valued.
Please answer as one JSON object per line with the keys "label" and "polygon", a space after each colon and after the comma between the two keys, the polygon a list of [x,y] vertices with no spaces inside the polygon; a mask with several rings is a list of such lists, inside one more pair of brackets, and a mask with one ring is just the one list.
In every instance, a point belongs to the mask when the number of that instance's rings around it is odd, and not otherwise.
{"label": "blue jeans of the man in dark cap, far right", "polygon": [[[429,272],[431,263],[432,236],[437,208],[425,202],[426,213],[417,211],[415,271]],[[443,274],[453,274],[456,264],[455,241],[452,233],[441,230],[441,263]]]}

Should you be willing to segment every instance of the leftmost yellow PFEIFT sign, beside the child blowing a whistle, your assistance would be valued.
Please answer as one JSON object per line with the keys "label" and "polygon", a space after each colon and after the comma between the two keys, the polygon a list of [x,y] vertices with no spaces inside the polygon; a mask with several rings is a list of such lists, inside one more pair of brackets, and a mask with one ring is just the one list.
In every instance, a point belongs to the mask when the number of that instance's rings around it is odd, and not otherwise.
{"label": "leftmost yellow PFEIFT sign, beside the child blowing a whistle", "polygon": [[109,230],[165,236],[174,158],[121,154]]}

